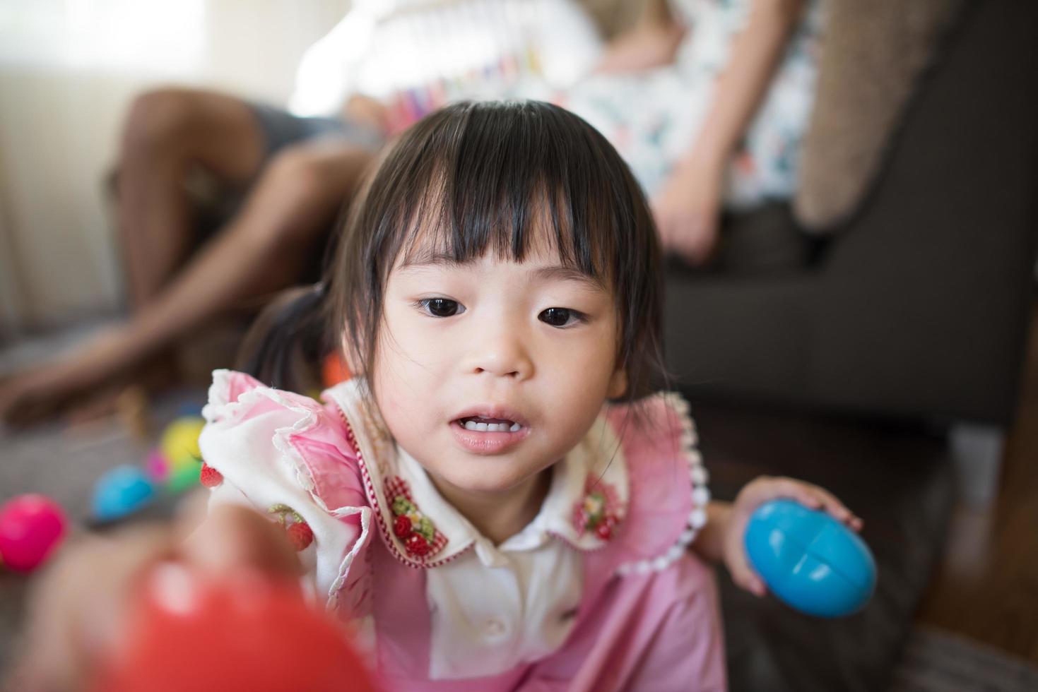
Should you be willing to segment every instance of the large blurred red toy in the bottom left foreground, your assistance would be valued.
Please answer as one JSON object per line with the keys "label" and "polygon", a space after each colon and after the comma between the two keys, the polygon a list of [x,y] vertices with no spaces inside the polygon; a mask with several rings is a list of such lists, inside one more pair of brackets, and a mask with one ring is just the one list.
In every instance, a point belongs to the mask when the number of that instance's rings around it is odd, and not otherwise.
{"label": "large blurred red toy in the bottom left foreground", "polygon": [[126,648],[88,689],[376,689],[344,630],[308,607],[298,586],[257,576],[206,583],[186,571],[171,579],[180,585],[174,597],[194,598],[167,606],[141,598]]}

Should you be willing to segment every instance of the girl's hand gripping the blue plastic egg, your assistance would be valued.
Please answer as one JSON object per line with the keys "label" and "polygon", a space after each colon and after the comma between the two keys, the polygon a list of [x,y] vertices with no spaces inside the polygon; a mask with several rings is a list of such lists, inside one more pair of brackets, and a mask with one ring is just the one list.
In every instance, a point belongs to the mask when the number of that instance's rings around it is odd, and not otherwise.
{"label": "girl's hand gripping the blue plastic egg", "polygon": [[746,556],[744,537],[750,515],[760,505],[775,498],[796,500],[810,509],[824,509],[853,531],[862,530],[862,520],[828,491],[794,478],[760,476],[747,483],[735,498],[723,538],[723,559],[732,581],[757,597],[767,593],[767,586]]}

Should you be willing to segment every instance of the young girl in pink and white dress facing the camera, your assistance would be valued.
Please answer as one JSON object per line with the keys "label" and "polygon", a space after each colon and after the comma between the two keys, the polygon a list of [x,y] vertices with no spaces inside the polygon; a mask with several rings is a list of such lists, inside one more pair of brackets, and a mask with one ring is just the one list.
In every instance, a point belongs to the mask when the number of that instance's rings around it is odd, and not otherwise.
{"label": "young girl in pink and white dress facing the camera", "polygon": [[[741,547],[760,502],[858,522],[789,479],[710,501],[687,405],[652,393],[659,276],[645,198],[583,120],[538,102],[430,115],[295,306],[327,308],[356,377],[317,403],[217,371],[211,506],[284,527],[389,689],[723,689],[703,558],[761,594]],[[267,353],[293,332],[275,324]]]}

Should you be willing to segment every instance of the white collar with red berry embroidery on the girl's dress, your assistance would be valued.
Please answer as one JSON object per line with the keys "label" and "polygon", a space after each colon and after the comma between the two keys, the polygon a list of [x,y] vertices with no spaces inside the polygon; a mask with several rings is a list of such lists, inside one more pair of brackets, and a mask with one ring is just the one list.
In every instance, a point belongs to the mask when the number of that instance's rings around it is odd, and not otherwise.
{"label": "white collar with red berry embroidery on the girl's dress", "polygon": [[[399,559],[412,566],[436,566],[469,548],[475,549],[485,565],[495,566],[506,560],[502,553],[536,550],[551,537],[578,550],[596,550],[605,547],[607,538],[591,528],[581,530],[581,507],[601,506],[610,516],[610,526],[622,521],[626,513],[627,463],[604,415],[599,415],[583,440],[552,468],[548,494],[534,520],[495,547],[439,494],[418,462],[393,443],[378,412],[366,404],[372,399],[360,378],[336,385],[327,393],[344,412],[360,452],[365,492],[382,537]],[[431,543],[431,552],[426,555],[415,554],[393,530],[399,514],[394,498],[401,496],[416,510],[409,515],[414,526],[418,526],[419,517],[432,523],[434,532],[428,524],[424,527],[425,535],[433,537],[425,542]],[[604,504],[599,501],[603,499]],[[398,504],[397,509],[401,508]]]}

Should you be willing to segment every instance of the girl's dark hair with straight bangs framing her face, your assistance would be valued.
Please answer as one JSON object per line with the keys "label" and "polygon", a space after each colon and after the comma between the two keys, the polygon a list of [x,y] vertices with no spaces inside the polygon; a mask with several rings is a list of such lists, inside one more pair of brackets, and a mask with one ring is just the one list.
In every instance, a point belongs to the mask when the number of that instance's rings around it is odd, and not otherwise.
{"label": "girl's dark hair with straight bangs framing her face", "polygon": [[604,137],[541,102],[462,103],[407,131],[347,218],[327,277],[331,328],[351,360],[374,362],[383,296],[398,260],[458,262],[488,251],[522,261],[550,242],[559,261],[616,298],[628,397],[662,373],[656,232],[640,188]]}

